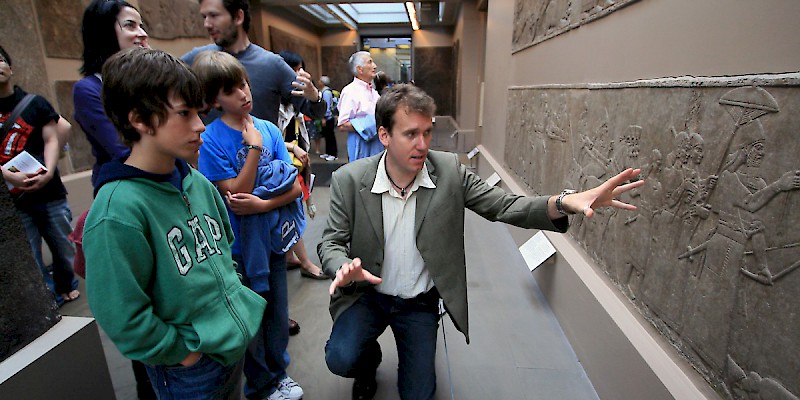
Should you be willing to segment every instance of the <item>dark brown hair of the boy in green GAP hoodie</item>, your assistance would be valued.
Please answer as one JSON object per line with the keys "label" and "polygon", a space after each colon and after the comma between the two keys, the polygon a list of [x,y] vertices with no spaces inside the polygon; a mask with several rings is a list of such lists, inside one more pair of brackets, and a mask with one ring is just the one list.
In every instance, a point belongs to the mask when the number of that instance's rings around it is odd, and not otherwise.
{"label": "dark brown hair of the boy in green GAP hoodie", "polygon": [[161,50],[133,47],[103,66],[103,107],[126,144],[141,139],[131,125],[135,111],[150,127],[167,121],[170,99],[202,109],[203,88],[186,63]]}

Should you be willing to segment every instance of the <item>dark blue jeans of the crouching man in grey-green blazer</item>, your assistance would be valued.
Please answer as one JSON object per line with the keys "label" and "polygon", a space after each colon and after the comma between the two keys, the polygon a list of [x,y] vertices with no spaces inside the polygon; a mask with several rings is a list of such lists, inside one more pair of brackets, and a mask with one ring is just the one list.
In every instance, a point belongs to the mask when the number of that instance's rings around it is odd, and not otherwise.
{"label": "dark blue jeans of the crouching man in grey-green blazer", "polygon": [[328,369],[345,378],[373,377],[381,363],[378,337],[392,328],[399,357],[401,399],[433,399],[436,393],[436,289],[413,299],[367,291],[333,323],[325,345]]}

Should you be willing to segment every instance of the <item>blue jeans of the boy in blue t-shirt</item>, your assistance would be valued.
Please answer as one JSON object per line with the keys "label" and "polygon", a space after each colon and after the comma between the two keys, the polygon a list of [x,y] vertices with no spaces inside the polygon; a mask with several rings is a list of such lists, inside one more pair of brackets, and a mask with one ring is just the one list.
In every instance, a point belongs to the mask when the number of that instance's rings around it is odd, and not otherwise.
{"label": "blue jeans of the boy in blue t-shirt", "polygon": [[[244,263],[239,254],[233,255],[242,274],[242,282],[250,287],[244,276]],[[255,338],[244,355],[244,394],[248,399],[263,399],[278,388],[289,366],[289,293],[286,283],[286,255],[271,253],[269,258],[269,291],[259,293],[267,300],[264,318]]]}

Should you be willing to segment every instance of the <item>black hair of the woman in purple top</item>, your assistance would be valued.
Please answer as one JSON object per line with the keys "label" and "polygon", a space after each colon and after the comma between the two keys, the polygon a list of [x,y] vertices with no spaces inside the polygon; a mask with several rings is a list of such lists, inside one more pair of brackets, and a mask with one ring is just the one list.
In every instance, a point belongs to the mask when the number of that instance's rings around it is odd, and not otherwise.
{"label": "black hair of the woman in purple top", "polygon": [[83,36],[83,65],[80,72],[89,76],[100,72],[103,63],[118,52],[117,15],[125,8],[136,7],[124,0],[92,0],[83,12],[81,35]]}

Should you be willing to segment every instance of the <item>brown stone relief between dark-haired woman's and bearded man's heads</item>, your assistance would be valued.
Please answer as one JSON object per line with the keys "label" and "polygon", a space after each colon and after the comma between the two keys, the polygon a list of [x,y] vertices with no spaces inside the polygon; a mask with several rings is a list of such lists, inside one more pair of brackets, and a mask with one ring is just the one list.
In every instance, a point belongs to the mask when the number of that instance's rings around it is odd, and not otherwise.
{"label": "brown stone relief between dark-haired woman's and bearded man's heads", "polygon": [[152,38],[208,37],[197,0],[139,0],[138,8]]}

